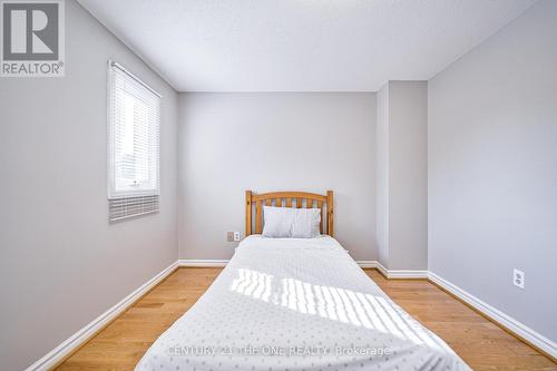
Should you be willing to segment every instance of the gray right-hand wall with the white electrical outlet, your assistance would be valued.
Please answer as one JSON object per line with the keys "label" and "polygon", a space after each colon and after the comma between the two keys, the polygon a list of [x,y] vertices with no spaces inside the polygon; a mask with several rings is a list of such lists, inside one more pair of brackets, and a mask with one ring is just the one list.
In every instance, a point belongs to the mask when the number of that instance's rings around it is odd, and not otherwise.
{"label": "gray right-hand wall with the white electrical outlet", "polygon": [[538,2],[429,81],[429,267],[554,341],[556,14]]}

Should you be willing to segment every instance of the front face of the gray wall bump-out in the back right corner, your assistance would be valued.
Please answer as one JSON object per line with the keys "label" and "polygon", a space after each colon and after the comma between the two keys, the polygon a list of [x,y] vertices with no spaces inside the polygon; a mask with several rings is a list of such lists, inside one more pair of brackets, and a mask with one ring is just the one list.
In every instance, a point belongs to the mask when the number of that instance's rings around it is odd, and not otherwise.
{"label": "front face of the gray wall bump-out in the back right corner", "polygon": [[389,269],[428,267],[428,82],[389,82]]}

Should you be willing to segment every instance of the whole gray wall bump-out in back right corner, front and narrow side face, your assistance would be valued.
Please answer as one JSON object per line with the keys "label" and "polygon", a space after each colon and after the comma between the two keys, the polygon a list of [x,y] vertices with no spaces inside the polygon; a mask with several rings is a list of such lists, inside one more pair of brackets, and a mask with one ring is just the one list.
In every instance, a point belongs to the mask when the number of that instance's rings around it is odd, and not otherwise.
{"label": "whole gray wall bump-out in back right corner, front and narrow side face", "polygon": [[428,84],[378,94],[378,245],[389,270],[428,267]]}

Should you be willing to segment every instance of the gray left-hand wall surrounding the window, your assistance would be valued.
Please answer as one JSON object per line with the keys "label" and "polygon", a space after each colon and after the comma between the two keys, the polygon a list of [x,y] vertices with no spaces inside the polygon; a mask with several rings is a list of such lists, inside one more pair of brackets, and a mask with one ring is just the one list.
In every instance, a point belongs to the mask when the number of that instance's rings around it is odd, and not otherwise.
{"label": "gray left-hand wall surrounding the window", "polygon": [[[66,77],[0,79],[0,369],[21,370],[177,258],[177,94],[66,2]],[[106,66],[164,95],[160,213],[108,224]]]}

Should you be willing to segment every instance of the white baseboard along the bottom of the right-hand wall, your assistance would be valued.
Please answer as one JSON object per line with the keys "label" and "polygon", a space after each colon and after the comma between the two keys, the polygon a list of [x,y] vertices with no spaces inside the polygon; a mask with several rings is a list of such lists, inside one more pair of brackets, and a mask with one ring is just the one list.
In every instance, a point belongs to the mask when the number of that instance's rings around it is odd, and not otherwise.
{"label": "white baseboard along the bottom of the right-hand wall", "polygon": [[540,333],[528,328],[526,324],[518,322],[510,315],[479,300],[478,297],[473,296],[472,294],[466,292],[456,284],[444,280],[443,277],[439,276],[438,274],[431,271],[429,272],[429,280],[431,280],[431,282],[438,284],[439,286],[443,287],[458,299],[473,306],[481,313],[486,314],[497,323],[507,328],[509,331],[514,332],[518,336],[525,339],[526,341],[541,349],[551,357],[557,358],[557,344],[554,341],[547,339]]}

